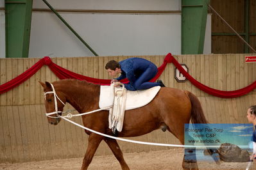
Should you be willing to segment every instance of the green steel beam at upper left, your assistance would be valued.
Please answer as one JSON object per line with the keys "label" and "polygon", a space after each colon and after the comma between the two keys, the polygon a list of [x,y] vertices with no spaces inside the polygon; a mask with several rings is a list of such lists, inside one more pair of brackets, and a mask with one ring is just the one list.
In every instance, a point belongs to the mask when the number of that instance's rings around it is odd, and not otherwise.
{"label": "green steel beam at upper left", "polygon": [[5,0],[6,58],[28,58],[33,0]]}

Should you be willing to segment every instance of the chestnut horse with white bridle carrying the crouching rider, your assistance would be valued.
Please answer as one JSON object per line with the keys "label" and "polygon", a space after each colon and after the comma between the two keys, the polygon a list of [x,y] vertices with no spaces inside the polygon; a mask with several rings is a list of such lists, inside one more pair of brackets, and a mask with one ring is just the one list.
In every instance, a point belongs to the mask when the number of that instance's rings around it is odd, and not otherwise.
{"label": "chestnut horse with white bridle carrying the crouching rider", "polygon": [[[53,82],[58,96],[56,99],[51,92],[53,88],[49,82],[46,84],[40,82],[40,84],[42,84],[46,95],[47,113],[56,111],[55,102],[57,102],[60,115],[65,102],[71,104],[80,113],[99,109],[99,85],[75,79],[56,81]],[[60,118],[55,116],[57,115],[47,117],[52,125],[57,125],[60,122]],[[82,119],[85,127],[103,134],[113,135],[112,130],[108,128],[108,111],[83,115]],[[164,87],[158,91],[157,96],[148,105],[125,112],[123,130],[119,132],[118,137],[144,135],[164,126],[180,140],[180,143],[184,144],[184,124],[189,123],[190,120],[192,123],[207,123],[198,98],[189,91]],[[88,130],[85,130],[85,133],[89,135],[89,143],[81,169],[87,169],[102,140],[108,144],[122,169],[129,169],[115,139],[103,137]],[[184,164],[183,159],[183,167]]]}

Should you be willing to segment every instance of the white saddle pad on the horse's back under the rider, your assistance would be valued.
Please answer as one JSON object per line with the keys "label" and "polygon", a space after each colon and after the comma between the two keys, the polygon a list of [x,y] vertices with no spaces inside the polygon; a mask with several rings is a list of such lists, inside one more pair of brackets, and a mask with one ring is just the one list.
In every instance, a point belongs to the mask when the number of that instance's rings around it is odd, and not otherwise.
{"label": "white saddle pad on the horse's back under the rider", "polygon": [[[151,100],[157,95],[160,86],[155,86],[150,89],[143,89],[137,91],[127,91],[126,107],[125,110],[136,109],[149,104]],[[121,89],[121,88],[120,88]],[[99,95],[99,108],[108,107],[113,105],[114,102],[114,88],[110,86],[101,86]],[[109,109],[108,109],[109,110]]]}

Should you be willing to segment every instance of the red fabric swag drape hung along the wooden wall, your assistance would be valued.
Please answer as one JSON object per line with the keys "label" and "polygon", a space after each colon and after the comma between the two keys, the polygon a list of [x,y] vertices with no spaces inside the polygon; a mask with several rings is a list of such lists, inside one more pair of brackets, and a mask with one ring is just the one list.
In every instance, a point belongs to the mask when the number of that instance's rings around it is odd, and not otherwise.
{"label": "red fabric swag drape hung along the wooden wall", "polygon": [[[209,93],[210,95],[214,95],[216,97],[221,97],[221,98],[234,98],[234,97],[241,97],[253,89],[256,88],[256,81],[250,84],[249,86],[242,88],[242,89],[237,89],[234,91],[221,91],[218,89],[213,89],[208,86],[205,86],[204,84],[201,84],[201,82],[196,81],[189,73],[187,73],[183,67],[176,61],[176,59],[171,55],[171,53],[167,54],[166,58],[164,58],[164,62],[162,63],[161,66],[158,67],[158,72],[157,75],[151,79],[151,82],[154,82],[160,77],[162,72],[164,72],[164,69],[166,68],[167,63],[173,63],[173,65],[180,70],[180,72],[192,83],[194,86],[197,88],[201,89],[202,91],[205,91],[206,93]],[[5,93],[9,91],[10,89],[15,88],[16,86],[19,86],[22,82],[26,81],[29,79],[32,75],[34,75],[43,65],[49,66],[51,71],[55,73],[55,75],[59,79],[79,79],[79,80],[85,80],[88,82],[92,82],[94,84],[101,84],[101,85],[109,85],[110,81],[109,79],[94,79],[92,77],[87,77],[84,75],[80,75],[78,73],[71,72],[65,68],[62,68],[61,66],[56,65],[51,61],[49,57],[44,57],[40,59],[35,65],[31,66],[26,72],[22,73],[21,75],[15,77],[11,81],[8,81],[0,86],[0,94]],[[124,79],[121,82],[123,83],[128,83],[128,79]]]}

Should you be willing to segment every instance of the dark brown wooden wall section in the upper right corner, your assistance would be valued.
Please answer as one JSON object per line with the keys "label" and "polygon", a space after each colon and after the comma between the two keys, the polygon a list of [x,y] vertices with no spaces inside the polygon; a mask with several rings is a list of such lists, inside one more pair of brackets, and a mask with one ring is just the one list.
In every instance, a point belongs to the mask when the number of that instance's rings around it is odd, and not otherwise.
{"label": "dark brown wooden wall section in the upper right corner", "polygon": [[[232,26],[237,33],[241,33],[244,38],[244,15],[245,15],[245,1],[249,1],[249,43],[256,49],[256,1],[255,0],[212,0],[210,5],[223,17],[230,26]],[[212,13],[212,33],[234,33],[221,20],[216,13]],[[212,53],[244,53],[244,43],[236,35],[212,35]],[[252,52],[249,49],[249,52]]]}

